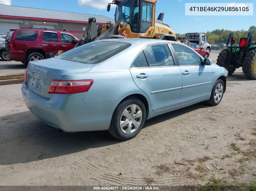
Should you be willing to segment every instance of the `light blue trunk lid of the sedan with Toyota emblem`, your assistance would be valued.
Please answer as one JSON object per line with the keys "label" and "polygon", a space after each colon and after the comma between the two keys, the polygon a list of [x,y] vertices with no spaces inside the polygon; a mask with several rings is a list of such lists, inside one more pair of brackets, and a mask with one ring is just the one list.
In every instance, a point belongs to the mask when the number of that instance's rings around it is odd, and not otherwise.
{"label": "light blue trunk lid of the sedan with Toyota emblem", "polygon": [[28,87],[38,96],[50,99],[48,89],[52,80],[61,80],[69,73],[88,72],[93,66],[57,58],[32,61],[27,68]]}

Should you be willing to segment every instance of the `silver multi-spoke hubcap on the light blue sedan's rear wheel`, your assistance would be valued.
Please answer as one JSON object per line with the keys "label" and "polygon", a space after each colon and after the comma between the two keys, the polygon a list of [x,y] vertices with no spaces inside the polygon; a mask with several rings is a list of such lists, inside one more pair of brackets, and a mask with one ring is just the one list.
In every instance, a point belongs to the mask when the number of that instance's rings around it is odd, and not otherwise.
{"label": "silver multi-spoke hubcap on the light blue sedan's rear wheel", "polygon": [[123,133],[129,135],[134,133],[141,125],[142,111],[141,108],[135,104],[129,105],[123,111],[119,125]]}

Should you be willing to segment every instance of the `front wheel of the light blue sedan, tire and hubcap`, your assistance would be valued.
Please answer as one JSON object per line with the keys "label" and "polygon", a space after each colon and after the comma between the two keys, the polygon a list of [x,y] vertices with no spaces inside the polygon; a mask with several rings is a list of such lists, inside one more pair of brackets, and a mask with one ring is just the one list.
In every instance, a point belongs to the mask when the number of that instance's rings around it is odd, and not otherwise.
{"label": "front wheel of the light blue sedan, tire and hubcap", "polygon": [[221,103],[222,97],[224,94],[224,82],[221,79],[218,79],[211,91],[211,97],[207,101],[209,105],[216,106]]}

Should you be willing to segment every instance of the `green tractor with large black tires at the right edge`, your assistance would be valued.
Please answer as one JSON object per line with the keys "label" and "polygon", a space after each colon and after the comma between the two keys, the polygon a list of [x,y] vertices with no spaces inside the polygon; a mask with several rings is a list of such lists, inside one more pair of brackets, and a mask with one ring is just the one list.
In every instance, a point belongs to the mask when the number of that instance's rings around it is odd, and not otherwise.
{"label": "green tractor with large black tires at the right edge", "polygon": [[[229,45],[229,42],[231,44]],[[227,49],[221,51],[217,59],[217,65],[226,68],[228,75],[235,72],[236,68],[242,67],[244,75],[250,80],[256,80],[256,43],[248,37],[240,39],[239,44],[235,43],[234,33],[230,33],[227,42]]]}

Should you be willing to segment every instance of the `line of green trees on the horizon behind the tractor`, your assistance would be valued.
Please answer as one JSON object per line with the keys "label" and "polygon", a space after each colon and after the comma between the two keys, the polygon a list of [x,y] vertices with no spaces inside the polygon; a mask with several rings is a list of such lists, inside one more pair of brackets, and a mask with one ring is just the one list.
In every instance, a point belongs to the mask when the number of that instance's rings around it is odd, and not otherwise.
{"label": "line of green trees on the horizon behind the tractor", "polygon": [[[252,40],[256,40],[256,26],[251,26],[248,30],[237,30],[237,31],[216,29],[211,32],[208,31],[207,33],[203,32],[203,34],[208,35],[208,43],[210,44],[218,44],[218,43],[226,44],[228,41],[228,36],[231,32],[234,32],[234,36],[237,39],[237,43],[239,42],[241,37],[247,37],[248,32],[251,32]],[[176,37],[185,37],[185,36],[186,36],[186,33],[185,34],[176,33]]]}

